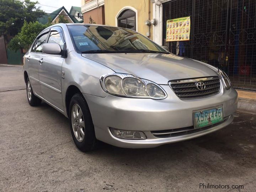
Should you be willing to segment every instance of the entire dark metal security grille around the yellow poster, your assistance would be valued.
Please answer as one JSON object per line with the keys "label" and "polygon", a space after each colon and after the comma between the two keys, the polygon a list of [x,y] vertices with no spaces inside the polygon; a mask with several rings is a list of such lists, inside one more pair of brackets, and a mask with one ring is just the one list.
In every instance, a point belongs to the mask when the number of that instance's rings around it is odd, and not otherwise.
{"label": "entire dark metal security grille around the yellow poster", "polygon": [[[256,1],[172,0],[163,4],[163,22],[191,17],[190,41],[163,42],[169,51],[223,69],[235,88],[256,90]],[[185,49],[185,50],[184,50]],[[178,52],[179,51],[179,52]]]}

